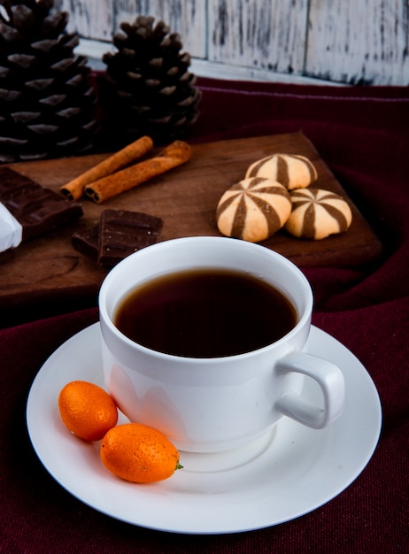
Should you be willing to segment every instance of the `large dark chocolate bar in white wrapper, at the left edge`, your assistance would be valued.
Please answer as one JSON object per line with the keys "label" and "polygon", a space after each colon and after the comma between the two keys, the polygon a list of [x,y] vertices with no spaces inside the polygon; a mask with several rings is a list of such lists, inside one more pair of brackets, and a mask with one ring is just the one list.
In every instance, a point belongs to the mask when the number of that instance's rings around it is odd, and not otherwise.
{"label": "large dark chocolate bar in white wrapper, at the left edge", "polygon": [[66,225],[83,213],[81,204],[42,188],[10,167],[0,168],[0,202],[21,225],[22,241]]}

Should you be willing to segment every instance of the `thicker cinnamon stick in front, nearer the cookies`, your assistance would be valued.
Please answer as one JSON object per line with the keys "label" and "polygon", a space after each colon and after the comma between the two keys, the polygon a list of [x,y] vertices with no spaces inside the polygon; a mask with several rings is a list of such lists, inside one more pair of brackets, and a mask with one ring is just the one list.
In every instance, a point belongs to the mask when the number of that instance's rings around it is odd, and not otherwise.
{"label": "thicker cinnamon stick in front, nearer the cookies", "polygon": [[96,204],[101,204],[108,198],[134,189],[145,181],[166,173],[167,171],[185,164],[191,158],[191,148],[187,142],[174,141],[166,146],[158,156],[126,167],[117,173],[112,173],[85,187],[85,194]]}

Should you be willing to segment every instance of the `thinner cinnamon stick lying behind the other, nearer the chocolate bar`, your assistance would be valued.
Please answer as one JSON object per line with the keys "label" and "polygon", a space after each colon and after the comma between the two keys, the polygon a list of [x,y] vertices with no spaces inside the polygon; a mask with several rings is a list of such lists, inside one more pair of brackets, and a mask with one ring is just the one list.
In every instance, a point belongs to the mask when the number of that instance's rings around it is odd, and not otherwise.
{"label": "thinner cinnamon stick lying behind the other, nearer the chocolate bar", "polygon": [[122,150],[115,152],[109,158],[104,159],[98,165],[94,165],[85,173],[81,173],[78,177],[69,181],[61,187],[60,191],[69,200],[78,200],[84,193],[84,189],[89,183],[97,181],[110,175],[121,167],[129,165],[135,159],[142,158],[146,152],[153,148],[153,141],[150,136],[143,136],[135,142],[128,144]]}

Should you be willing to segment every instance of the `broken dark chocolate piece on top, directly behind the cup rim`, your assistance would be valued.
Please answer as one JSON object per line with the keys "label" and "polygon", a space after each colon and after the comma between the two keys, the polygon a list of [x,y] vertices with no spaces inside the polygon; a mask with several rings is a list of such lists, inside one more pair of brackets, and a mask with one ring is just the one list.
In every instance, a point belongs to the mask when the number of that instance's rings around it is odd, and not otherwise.
{"label": "broken dark chocolate piece on top, directly behind the cup rim", "polygon": [[162,219],[142,212],[104,210],[99,226],[98,264],[112,267],[158,241]]}

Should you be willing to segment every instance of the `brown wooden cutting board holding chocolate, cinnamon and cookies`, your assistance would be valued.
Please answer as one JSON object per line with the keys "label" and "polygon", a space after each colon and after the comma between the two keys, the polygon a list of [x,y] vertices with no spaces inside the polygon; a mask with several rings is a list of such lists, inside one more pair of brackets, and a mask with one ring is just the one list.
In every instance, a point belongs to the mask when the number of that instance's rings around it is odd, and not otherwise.
{"label": "brown wooden cutting board holding chocolate, cinnamon and cookies", "polygon": [[[106,271],[73,249],[71,235],[76,229],[95,224],[104,208],[147,212],[163,219],[160,240],[196,235],[220,235],[215,212],[220,196],[243,179],[252,162],[283,152],[302,154],[316,166],[319,180],[314,186],[332,190],[348,199],[345,191],[313,144],[302,134],[260,136],[193,145],[189,164],[144,183],[104,204],[81,201],[84,216],[67,227],[22,243],[4,262],[0,271],[0,308],[25,302],[59,298],[95,296]],[[25,162],[10,165],[43,187],[60,186],[96,165],[106,154]],[[299,266],[360,265],[374,260],[381,243],[351,203],[353,220],[343,235],[322,241],[305,241],[284,231],[263,244],[291,259]]]}

